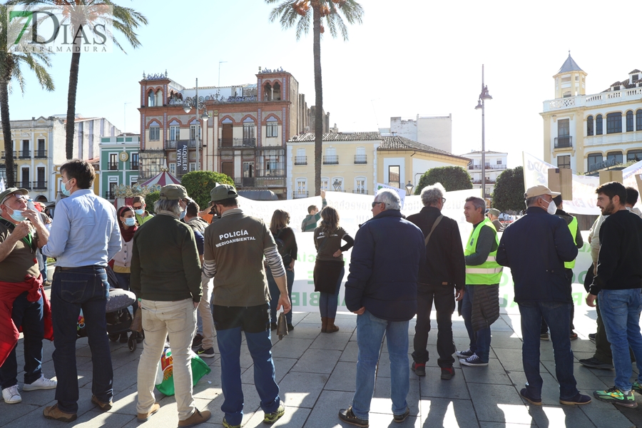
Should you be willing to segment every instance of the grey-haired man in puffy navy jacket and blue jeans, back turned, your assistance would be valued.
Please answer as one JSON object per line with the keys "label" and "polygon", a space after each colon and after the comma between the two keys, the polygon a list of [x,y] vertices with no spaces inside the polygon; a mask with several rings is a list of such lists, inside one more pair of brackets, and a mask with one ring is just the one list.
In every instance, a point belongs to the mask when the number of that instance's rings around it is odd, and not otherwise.
{"label": "grey-haired man in puffy navy jacket and blue jeans, back turned", "polygon": [[357,317],[357,388],[339,419],[368,426],[374,372],[386,335],[390,358],[392,414],[404,422],[408,395],[408,323],[417,312],[417,272],[426,258],[421,230],[399,211],[399,196],[383,189],[374,197],[372,218],[361,225],[350,257],[345,305]]}

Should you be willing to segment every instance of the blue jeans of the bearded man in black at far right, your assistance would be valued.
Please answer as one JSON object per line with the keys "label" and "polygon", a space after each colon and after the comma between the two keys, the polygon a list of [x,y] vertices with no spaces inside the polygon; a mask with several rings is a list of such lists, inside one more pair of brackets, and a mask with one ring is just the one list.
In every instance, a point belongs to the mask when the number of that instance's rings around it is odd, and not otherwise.
{"label": "blue jeans of the bearded man in black at far right", "polygon": [[642,295],[639,288],[630,290],[602,290],[598,295],[600,312],[606,329],[606,337],[611,342],[613,367],[616,370],[615,385],[622,391],[631,389],[631,355],[633,350],[638,367],[638,382],[642,382],[642,334],[640,332],[640,312]]}

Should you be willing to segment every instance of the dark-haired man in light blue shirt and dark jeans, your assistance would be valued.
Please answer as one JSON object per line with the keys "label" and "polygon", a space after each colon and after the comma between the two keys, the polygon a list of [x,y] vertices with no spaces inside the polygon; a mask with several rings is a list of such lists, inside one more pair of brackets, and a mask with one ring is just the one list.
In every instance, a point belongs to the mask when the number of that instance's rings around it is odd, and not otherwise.
{"label": "dark-haired man in light blue shirt and dark jeans", "polygon": [[72,422],[78,411],[76,324],[81,310],[93,361],[91,402],[103,412],[112,407],[113,370],[105,318],[109,283],[105,267],[121,249],[121,232],[116,209],[91,190],[96,175],[91,164],[73,159],[60,171],[61,192],[68,198],[56,204],[49,242],[42,248],[44,255],[57,259],[51,285],[57,403],[46,407],[43,414],[47,419]]}

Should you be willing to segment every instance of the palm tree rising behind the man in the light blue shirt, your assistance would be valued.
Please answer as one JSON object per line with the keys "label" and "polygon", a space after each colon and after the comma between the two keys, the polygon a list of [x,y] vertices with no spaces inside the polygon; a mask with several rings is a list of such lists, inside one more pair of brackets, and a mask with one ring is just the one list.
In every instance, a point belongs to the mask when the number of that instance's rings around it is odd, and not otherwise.
{"label": "palm tree rising behind the man in the light blue shirt", "polygon": [[[134,9],[118,6],[111,0],[22,0],[22,4],[35,6],[38,4],[49,4],[65,8],[64,19],[70,24],[71,34],[86,27],[93,29],[97,24],[111,24],[113,29],[123,34],[129,44],[134,49],[141,46],[138,41],[136,29],[138,26],[147,24],[147,18]],[[110,10],[111,8],[111,10]],[[111,20],[111,22],[109,22]],[[109,27],[107,27],[109,28]],[[125,52],[123,46],[118,43],[116,36],[108,32],[106,36],[110,37],[113,44],[118,46],[121,51]],[[82,40],[81,36],[74,37],[73,47],[76,47],[76,41]],[[69,89],[67,92],[67,121],[66,121],[66,141],[65,153],[66,158],[73,158],[73,131],[76,122],[76,89],[78,88],[78,70],[80,68],[81,49],[73,49],[71,54],[71,68],[69,69]],[[124,130],[123,130],[124,131]]]}

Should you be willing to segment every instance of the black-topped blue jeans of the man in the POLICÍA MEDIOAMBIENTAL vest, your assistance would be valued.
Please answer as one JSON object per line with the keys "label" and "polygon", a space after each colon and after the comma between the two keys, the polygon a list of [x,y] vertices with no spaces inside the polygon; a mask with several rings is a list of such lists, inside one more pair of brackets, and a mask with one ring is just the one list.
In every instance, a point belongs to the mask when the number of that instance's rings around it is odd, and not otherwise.
{"label": "black-topped blue jeans of the man in the POLIC\u00cdA MEDIOAMBIENTAL vest", "polygon": [[240,425],[243,421],[243,388],[240,379],[240,347],[245,341],[254,361],[254,384],[261,399],[261,409],[272,413],[280,404],[279,385],[274,379],[269,305],[222,307],[213,305],[216,341],[220,351],[220,382],[223,389],[225,421]]}

